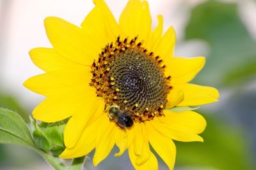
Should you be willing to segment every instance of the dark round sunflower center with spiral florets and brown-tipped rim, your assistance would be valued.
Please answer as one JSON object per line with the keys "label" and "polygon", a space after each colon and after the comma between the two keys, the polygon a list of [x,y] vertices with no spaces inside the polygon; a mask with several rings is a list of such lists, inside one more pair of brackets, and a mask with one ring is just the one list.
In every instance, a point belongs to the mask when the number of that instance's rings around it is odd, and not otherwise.
{"label": "dark round sunflower center with spiral florets and brown-tipped rim", "polygon": [[143,122],[163,115],[170,77],[164,77],[162,60],[136,39],[128,42],[118,38],[115,45],[106,45],[92,64],[90,85],[104,98],[106,109],[116,104],[121,110],[132,111],[134,121]]}

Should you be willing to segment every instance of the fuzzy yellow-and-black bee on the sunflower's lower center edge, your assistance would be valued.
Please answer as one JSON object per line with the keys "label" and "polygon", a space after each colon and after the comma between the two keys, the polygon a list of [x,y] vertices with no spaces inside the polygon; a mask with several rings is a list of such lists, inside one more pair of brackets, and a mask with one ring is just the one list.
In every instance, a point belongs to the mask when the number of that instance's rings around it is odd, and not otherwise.
{"label": "fuzzy yellow-and-black bee on the sunflower's lower center edge", "polygon": [[124,131],[125,128],[133,125],[132,114],[134,114],[132,111],[120,110],[120,107],[116,105],[110,106],[108,110],[109,119],[115,121],[116,125],[124,129]]}

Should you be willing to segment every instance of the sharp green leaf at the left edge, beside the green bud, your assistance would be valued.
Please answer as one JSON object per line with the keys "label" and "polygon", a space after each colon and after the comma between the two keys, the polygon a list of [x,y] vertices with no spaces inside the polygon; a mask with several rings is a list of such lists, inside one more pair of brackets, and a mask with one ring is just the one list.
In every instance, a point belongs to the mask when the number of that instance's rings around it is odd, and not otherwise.
{"label": "sharp green leaf at the left edge, beside the green bud", "polygon": [[35,148],[24,120],[18,113],[4,108],[0,108],[0,143]]}

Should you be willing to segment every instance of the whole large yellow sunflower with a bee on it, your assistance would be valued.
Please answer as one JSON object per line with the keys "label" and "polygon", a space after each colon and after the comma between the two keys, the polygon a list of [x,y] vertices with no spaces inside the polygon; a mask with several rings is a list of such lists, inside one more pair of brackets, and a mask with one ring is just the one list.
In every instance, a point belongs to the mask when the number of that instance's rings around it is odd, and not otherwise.
{"label": "whole large yellow sunflower with a bee on it", "polygon": [[113,146],[128,150],[135,169],[157,169],[150,146],[170,169],[176,141],[203,141],[205,119],[176,106],[218,101],[218,90],[188,83],[202,69],[204,57],[174,57],[175,31],[163,34],[163,17],[152,30],[147,1],[130,0],[119,23],[103,0],[81,27],[57,18],[45,19],[53,48],[29,52],[46,73],[24,85],[46,98],[33,110],[42,122],[69,118],[64,132],[65,159],[92,152],[93,164]]}

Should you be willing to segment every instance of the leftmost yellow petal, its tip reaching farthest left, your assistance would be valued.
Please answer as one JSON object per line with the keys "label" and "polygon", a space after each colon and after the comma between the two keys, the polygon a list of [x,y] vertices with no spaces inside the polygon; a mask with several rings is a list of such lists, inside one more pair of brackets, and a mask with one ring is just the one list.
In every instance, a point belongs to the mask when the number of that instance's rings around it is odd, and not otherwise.
{"label": "leftmost yellow petal, its tip reaching farthest left", "polygon": [[[44,96],[54,96],[56,92],[63,94],[72,92],[87,92],[95,90],[89,86],[92,74],[90,69],[64,69],[33,76],[24,82],[29,90]],[[86,91],[87,90],[87,91]]]}

